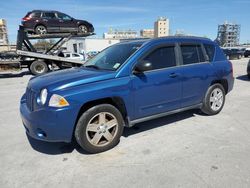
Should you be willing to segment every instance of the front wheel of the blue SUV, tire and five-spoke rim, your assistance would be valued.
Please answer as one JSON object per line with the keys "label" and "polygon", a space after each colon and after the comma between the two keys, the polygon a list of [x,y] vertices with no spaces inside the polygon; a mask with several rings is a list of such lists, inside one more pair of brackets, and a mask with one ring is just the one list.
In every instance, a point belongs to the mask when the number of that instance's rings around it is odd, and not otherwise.
{"label": "front wheel of the blue SUV, tire and five-spoke rim", "polygon": [[124,120],[118,109],[110,104],[94,106],[79,118],[75,138],[89,153],[109,150],[119,143]]}

